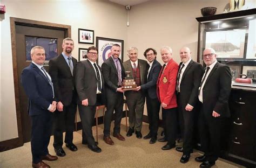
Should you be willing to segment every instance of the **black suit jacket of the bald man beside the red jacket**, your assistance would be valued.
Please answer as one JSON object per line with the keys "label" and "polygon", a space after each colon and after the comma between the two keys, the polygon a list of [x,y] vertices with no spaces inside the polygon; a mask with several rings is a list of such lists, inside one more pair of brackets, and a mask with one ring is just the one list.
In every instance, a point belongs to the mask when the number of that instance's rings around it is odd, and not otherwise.
{"label": "black suit jacket of the bald man beside the red jacket", "polygon": [[[179,65],[179,69],[183,63]],[[203,66],[193,60],[187,65],[181,81],[180,81],[180,96],[181,107],[186,107],[187,103],[195,107],[198,103],[198,88],[203,76]]]}

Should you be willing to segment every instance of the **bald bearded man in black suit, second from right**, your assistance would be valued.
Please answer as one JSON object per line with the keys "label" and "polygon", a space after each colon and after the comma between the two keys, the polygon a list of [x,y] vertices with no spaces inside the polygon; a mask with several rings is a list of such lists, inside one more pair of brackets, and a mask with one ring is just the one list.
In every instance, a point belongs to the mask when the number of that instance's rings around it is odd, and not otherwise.
{"label": "bald bearded man in black suit, second from right", "polygon": [[203,75],[203,67],[191,59],[191,51],[183,47],[179,52],[181,62],[177,75],[177,103],[179,125],[183,137],[183,147],[176,150],[183,152],[181,163],[186,163],[193,152],[193,130],[196,106],[198,105],[198,88]]}

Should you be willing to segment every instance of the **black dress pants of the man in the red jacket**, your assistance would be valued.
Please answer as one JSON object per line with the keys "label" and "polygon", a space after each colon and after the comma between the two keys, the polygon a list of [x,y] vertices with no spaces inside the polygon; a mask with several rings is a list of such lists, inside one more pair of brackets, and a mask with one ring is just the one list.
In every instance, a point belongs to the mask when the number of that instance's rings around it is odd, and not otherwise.
{"label": "black dress pants of the man in the red jacket", "polygon": [[177,134],[177,108],[164,109],[162,108],[162,113],[164,117],[165,129],[167,141],[170,145],[176,144],[176,134]]}

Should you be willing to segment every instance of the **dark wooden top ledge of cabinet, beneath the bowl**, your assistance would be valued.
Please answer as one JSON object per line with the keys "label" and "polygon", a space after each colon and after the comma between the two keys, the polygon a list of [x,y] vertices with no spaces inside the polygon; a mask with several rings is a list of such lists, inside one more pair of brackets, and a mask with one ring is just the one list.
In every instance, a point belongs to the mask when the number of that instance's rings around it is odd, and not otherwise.
{"label": "dark wooden top ledge of cabinet, beneath the bowl", "polygon": [[256,8],[253,8],[253,9],[241,10],[241,11],[230,12],[230,13],[221,13],[218,15],[197,17],[196,19],[198,22],[205,22],[205,21],[211,21],[211,20],[227,19],[227,18],[255,15],[255,14],[256,14]]}

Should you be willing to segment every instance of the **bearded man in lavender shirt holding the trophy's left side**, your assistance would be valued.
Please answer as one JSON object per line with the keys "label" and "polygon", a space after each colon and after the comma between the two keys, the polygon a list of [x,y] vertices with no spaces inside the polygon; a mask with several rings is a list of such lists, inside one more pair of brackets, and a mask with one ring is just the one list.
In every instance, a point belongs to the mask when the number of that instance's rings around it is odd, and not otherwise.
{"label": "bearded man in lavender shirt holding the trophy's left side", "polygon": [[120,123],[122,120],[124,95],[122,81],[124,79],[124,67],[120,60],[120,46],[114,44],[111,47],[111,57],[102,64],[102,72],[106,88],[106,107],[107,111],[104,117],[104,141],[107,144],[113,145],[114,142],[110,138],[110,124],[114,115],[114,132],[113,136],[120,141],[125,141],[125,138],[120,134]]}

